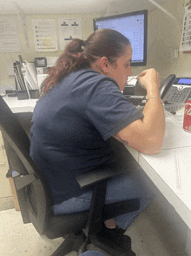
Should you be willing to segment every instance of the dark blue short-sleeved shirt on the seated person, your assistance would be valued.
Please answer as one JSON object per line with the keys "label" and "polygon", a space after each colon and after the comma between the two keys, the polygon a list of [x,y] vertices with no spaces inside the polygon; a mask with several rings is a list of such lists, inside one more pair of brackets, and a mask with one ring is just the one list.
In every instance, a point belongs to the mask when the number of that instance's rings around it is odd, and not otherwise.
{"label": "dark blue short-sleeved shirt on the seated person", "polygon": [[30,155],[48,181],[52,205],[85,192],[76,176],[110,165],[108,138],[142,117],[114,79],[90,69],[70,73],[40,98],[32,119]]}

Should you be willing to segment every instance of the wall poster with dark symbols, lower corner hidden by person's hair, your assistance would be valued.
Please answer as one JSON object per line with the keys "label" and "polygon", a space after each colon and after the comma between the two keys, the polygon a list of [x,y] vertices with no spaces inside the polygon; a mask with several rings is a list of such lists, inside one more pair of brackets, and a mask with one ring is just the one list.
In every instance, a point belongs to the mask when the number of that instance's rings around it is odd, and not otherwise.
{"label": "wall poster with dark symbols, lower corner hidden by person's hair", "polygon": [[75,38],[82,39],[81,18],[58,18],[60,50],[64,51],[69,42]]}

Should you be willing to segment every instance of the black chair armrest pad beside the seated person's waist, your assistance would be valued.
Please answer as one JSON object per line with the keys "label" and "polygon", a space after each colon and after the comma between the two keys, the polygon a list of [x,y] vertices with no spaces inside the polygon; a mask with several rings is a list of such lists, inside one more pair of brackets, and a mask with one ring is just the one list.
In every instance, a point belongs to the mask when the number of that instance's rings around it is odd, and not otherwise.
{"label": "black chair armrest pad beside the seated person's waist", "polygon": [[109,167],[102,167],[102,168],[95,168],[89,172],[83,173],[76,177],[76,180],[80,187],[86,188],[90,185],[95,185],[106,179],[111,179],[117,175],[124,174],[124,170],[115,170],[114,168]]}

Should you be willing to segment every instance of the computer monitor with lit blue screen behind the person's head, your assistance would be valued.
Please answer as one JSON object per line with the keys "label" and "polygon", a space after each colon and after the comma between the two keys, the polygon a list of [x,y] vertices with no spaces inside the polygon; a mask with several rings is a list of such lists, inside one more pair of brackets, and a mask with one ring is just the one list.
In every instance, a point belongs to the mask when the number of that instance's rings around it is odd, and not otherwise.
{"label": "computer monitor with lit blue screen behind the person's head", "polygon": [[139,10],[93,20],[94,30],[117,30],[128,37],[133,49],[132,66],[147,64],[148,10]]}

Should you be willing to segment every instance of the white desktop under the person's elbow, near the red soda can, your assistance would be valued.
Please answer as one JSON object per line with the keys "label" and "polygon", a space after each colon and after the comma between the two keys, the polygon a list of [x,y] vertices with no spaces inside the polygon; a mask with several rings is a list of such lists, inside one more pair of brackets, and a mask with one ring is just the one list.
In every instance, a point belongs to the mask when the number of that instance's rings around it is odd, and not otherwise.
{"label": "white desktop under the person's elbow, near the red soda can", "polygon": [[191,255],[191,133],[183,131],[183,114],[166,112],[162,151],[145,155],[128,151],[188,226],[187,253]]}

